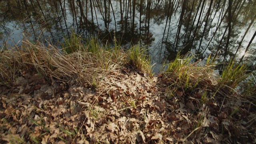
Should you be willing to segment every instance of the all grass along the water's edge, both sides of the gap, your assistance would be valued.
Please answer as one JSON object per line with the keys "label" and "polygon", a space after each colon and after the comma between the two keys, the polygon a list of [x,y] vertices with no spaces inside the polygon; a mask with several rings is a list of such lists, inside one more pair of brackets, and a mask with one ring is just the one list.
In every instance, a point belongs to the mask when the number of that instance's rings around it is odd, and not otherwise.
{"label": "all grass along the water's edge, both sides of the gap", "polygon": [[[166,64],[162,81],[173,90],[197,92],[202,89],[206,96],[212,93],[215,96],[218,90],[224,90],[222,87],[235,89],[251,74],[246,74],[245,65],[235,65],[234,61],[230,61],[218,76],[214,73],[215,57],[209,56],[206,64],[202,64],[201,61],[192,62],[194,55],[191,53],[181,56],[178,52],[176,58]],[[86,82],[93,88],[100,86],[100,81],[108,74],[116,73],[125,66],[153,75],[145,46],[138,44],[124,51],[115,38],[114,45],[110,47],[100,43],[97,38],[82,40],[74,33],[70,39],[64,40],[62,49],[51,44],[33,44],[25,39],[20,49],[3,50],[0,58],[0,84],[5,85],[14,82],[20,70],[24,69],[34,69],[46,79],[53,77],[66,82]],[[254,85],[250,84],[250,87],[247,94],[254,91]]]}

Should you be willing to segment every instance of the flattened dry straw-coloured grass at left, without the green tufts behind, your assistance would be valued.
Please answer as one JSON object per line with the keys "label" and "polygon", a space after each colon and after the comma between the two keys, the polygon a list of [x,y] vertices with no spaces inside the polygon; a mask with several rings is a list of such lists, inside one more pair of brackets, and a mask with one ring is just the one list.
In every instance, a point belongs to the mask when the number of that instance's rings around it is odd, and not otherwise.
{"label": "flattened dry straw-coloured grass at left, without the green tufts behind", "polygon": [[[117,69],[114,62],[105,62],[109,55],[101,52],[101,58],[99,58],[96,54],[84,51],[64,55],[54,46],[45,48],[26,40],[23,42],[22,50],[2,52],[1,84],[15,80],[18,70],[24,67],[35,68],[38,74],[46,79],[53,77],[65,82],[77,80],[91,84],[93,76],[104,76],[110,71],[115,72]],[[108,67],[108,69],[102,67]]]}

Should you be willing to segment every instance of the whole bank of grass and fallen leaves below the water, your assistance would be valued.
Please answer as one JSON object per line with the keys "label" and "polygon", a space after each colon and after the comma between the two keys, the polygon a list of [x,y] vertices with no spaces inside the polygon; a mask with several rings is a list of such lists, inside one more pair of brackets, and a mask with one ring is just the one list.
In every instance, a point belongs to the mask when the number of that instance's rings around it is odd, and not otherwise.
{"label": "whole bank of grass and fallen leaves below the water", "polygon": [[[239,99],[242,93],[236,90],[249,75],[244,65],[230,62],[222,76],[218,76],[210,56],[203,65],[200,61],[192,62],[192,54],[185,57],[178,54],[167,64],[166,71],[151,78],[150,59],[140,45],[124,52],[116,44],[114,48],[101,46],[94,38],[86,44],[75,34],[72,38],[74,40],[66,40],[62,49],[24,40],[20,49],[14,47],[1,52],[0,85],[9,87],[0,89],[3,103],[0,112],[6,115],[2,117],[1,132],[6,141],[15,139],[16,143],[25,143],[28,138],[30,142],[42,142],[47,141],[48,136],[56,136],[51,142],[78,142],[81,138],[103,142],[111,134],[121,142],[118,128],[125,130],[127,135],[122,138],[127,142],[136,142],[135,136],[141,136],[140,142],[146,139],[148,142],[171,139],[208,142],[215,133],[218,138],[211,140],[214,143],[223,142],[225,137],[255,136],[249,133],[254,132],[256,122],[252,117],[254,111],[250,111],[251,104],[255,104],[254,75],[250,74],[254,79],[251,78],[244,90],[252,101]],[[38,75],[48,83],[33,82],[40,80]],[[56,87],[54,82],[58,82]],[[62,88],[62,84],[69,86]],[[14,114],[14,108],[20,111]],[[31,114],[31,110],[36,113]],[[18,116],[19,112],[22,116]],[[67,115],[63,117],[62,112]],[[69,125],[74,120],[70,112],[79,119],[79,124]],[[20,120],[16,115],[28,123],[30,131],[26,132],[26,138],[12,130],[12,122]],[[54,122],[48,121],[52,116]],[[248,125],[243,127],[240,121]],[[94,126],[97,130],[92,132]],[[231,126],[248,129],[248,132],[237,132]],[[9,131],[12,134],[6,134]],[[225,136],[229,133],[232,135]]]}

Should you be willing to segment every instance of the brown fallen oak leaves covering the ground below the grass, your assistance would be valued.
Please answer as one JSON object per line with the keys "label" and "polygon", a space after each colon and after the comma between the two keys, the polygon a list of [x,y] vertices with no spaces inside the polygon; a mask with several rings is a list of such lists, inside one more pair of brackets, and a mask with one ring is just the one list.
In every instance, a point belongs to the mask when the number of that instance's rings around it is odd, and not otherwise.
{"label": "brown fallen oak leaves covering the ground below the grass", "polygon": [[[194,102],[164,96],[158,77],[136,71],[104,78],[108,92],[52,83],[38,74],[1,87],[1,143],[220,143],[255,142],[255,121],[241,104],[196,110]],[[38,81],[41,82],[38,82]],[[26,89],[29,89],[26,90]],[[196,97],[196,95],[195,95]],[[178,102],[177,102],[178,101]],[[230,116],[230,108],[239,112]],[[239,107],[240,106],[240,107]],[[241,121],[241,122],[240,122]]]}

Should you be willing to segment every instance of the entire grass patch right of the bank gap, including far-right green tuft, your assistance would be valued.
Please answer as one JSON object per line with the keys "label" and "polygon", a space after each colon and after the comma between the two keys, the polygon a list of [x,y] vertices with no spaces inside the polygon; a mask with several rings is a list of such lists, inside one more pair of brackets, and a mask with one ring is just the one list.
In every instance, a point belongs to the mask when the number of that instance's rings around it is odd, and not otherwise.
{"label": "entire grass patch right of the bank gap, including far-right green tuft", "polygon": [[[187,54],[181,56],[178,52],[176,58],[166,64],[166,71],[162,72],[162,82],[170,86],[171,93],[181,91],[186,94],[196,94],[200,92],[201,101],[207,102],[208,98],[214,98],[216,95],[232,95],[237,92],[236,88],[242,85],[242,82],[252,73],[246,73],[246,66],[236,65],[233,60],[218,75],[214,72],[216,65],[213,56],[209,55],[206,64],[201,61],[192,62],[194,55]],[[255,88],[252,82],[247,81],[249,85],[247,95],[252,95]],[[245,93],[244,93],[245,94]]]}

